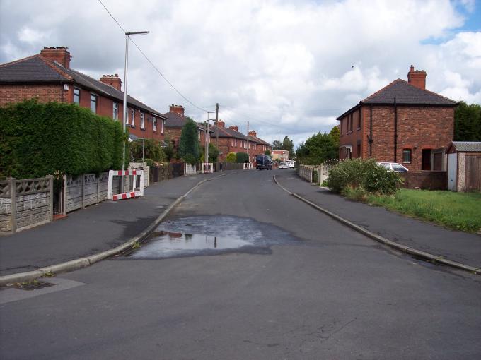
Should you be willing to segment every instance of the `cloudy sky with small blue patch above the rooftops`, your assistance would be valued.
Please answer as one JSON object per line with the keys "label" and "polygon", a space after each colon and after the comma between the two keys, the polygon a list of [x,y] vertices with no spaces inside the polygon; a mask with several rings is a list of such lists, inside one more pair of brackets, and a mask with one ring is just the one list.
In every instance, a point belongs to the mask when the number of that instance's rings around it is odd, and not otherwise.
{"label": "cloudy sky with small blue patch above the rooftops", "polygon": [[[158,112],[182,104],[299,144],[387,85],[427,71],[427,89],[481,103],[481,4],[471,0],[102,0],[126,31],[129,95]],[[81,4],[81,6],[80,6]],[[66,46],[71,68],[124,77],[122,30],[98,0],[0,0],[0,64]],[[206,110],[203,111],[197,107]],[[215,116],[211,114],[210,116]]]}

